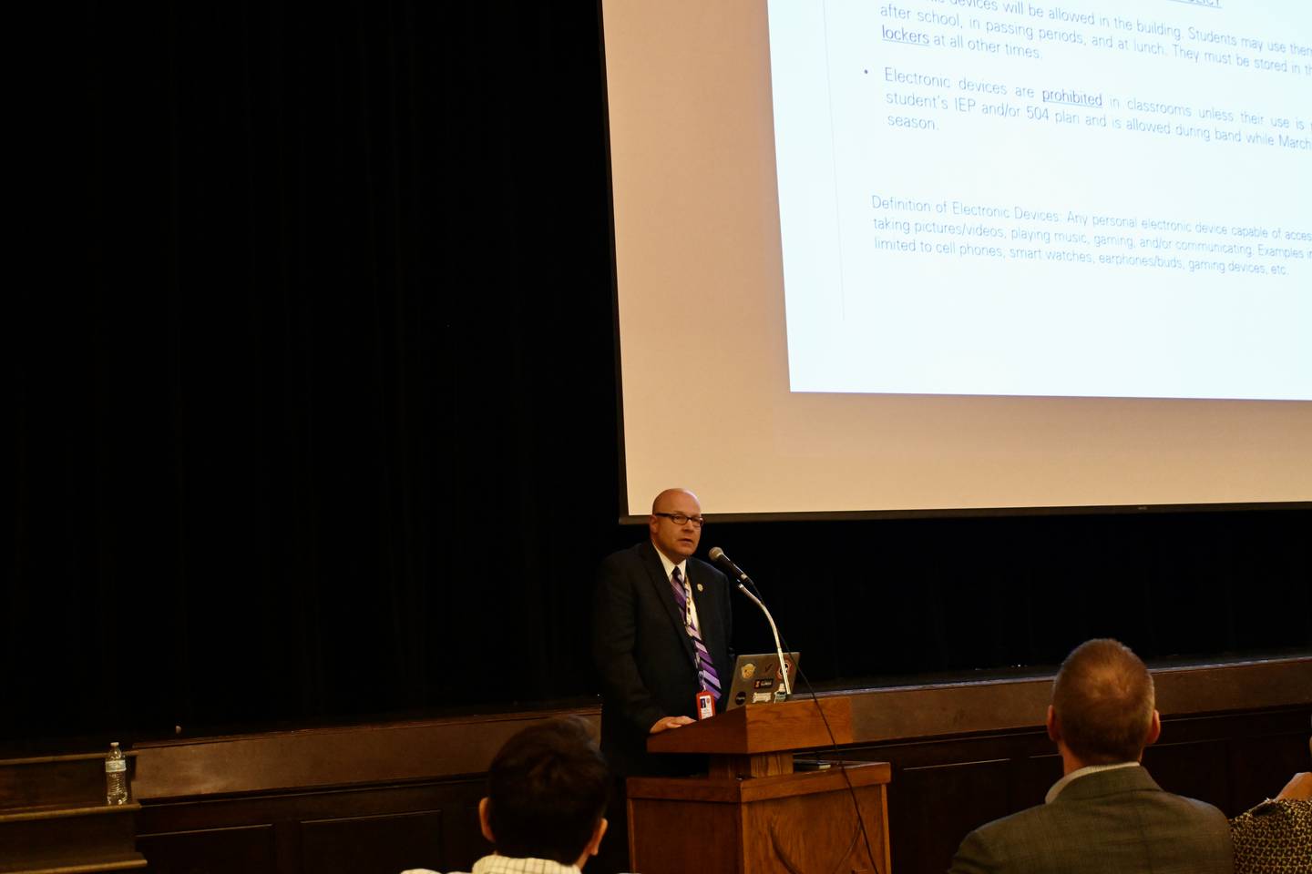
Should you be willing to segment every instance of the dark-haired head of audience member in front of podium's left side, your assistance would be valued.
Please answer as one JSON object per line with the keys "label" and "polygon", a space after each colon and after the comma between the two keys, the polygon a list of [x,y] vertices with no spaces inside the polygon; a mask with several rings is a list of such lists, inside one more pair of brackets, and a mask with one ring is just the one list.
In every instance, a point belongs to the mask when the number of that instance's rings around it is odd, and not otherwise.
{"label": "dark-haired head of audience member in front of podium's left side", "polygon": [[499,856],[583,867],[606,832],[609,782],[586,722],[572,717],[529,726],[488,768],[488,795],[479,802],[483,836]]}

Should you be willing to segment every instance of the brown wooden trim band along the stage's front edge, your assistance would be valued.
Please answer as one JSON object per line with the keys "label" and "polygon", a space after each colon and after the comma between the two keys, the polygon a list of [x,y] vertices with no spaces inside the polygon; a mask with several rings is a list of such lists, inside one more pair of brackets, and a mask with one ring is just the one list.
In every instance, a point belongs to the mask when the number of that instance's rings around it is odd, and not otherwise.
{"label": "brown wooden trim band along the stage's front edge", "polygon": [[[1168,721],[1312,704],[1312,655],[1153,671]],[[825,692],[851,697],[853,746],[1036,730],[1052,677]],[[598,708],[392,722],[136,744],[134,798],[239,795],[478,778],[520,729]],[[819,746],[819,744],[817,744]]]}

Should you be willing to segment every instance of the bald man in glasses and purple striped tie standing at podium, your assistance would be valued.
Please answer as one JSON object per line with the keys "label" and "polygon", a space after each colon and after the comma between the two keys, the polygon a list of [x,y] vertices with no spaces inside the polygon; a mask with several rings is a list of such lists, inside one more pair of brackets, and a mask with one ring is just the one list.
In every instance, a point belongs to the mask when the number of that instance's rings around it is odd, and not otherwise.
{"label": "bald man in glasses and purple striped tie standing at podium", "polygon": [[621,781],[705,770],[697,759],[649,755],[647,738],[693,722],[699,701],[718,712],[733,668],[728,580],[693,558],[702,537],[697,495],[661,491],[647,528],[647,540],[602,561],[593,600],[601,750]]}

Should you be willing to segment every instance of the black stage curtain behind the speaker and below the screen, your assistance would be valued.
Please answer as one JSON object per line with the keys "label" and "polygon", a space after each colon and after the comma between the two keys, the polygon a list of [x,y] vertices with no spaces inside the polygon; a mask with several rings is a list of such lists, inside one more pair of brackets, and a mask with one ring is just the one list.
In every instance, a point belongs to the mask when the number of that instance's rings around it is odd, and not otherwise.
{"label": "black stage curtain behind the speaker and below the screen", "polygon": [[[49,123],[22,168],[45,208],[10,322],[0,742],[589,700],[593,569],[646,536],[617,523],[594,7],[60,14],[25,83]],[[1307,651],[1308,531],[1052,514],[702,545],[753,571],[813,680],[859,684],[1044,670],[1103,634]]]}

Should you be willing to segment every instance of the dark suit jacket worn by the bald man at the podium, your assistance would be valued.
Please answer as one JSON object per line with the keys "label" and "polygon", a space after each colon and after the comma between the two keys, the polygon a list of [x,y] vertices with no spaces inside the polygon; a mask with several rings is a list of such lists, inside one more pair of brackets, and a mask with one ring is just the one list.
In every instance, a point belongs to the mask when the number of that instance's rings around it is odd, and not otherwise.
{"label": "dark suit jacket worn by the bald man at the podium", "polygon": [[[733,670],[728,580],[697,558],[686,567],[702,642],[727,691]],[[686,772],[686,760],[647,753],[652,725],[663,717],[694,717],[702,688],[693,641],[651,541],[601,563],[592,628],[602,688],[601,748],[610,767],[619,776]]]}

